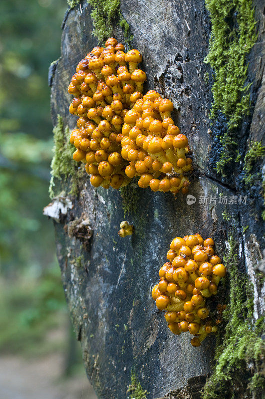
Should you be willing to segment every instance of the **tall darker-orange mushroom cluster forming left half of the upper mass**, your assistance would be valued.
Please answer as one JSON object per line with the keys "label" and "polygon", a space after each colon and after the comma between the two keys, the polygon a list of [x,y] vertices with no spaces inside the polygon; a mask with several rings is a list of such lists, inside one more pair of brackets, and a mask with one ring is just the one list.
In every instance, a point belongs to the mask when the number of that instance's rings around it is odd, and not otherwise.
{"label": "tall darker-orange mushroom cluster forming left half of the upper mass", "polygon": [[146,74],[137,69],[142,55],[113,37],[105,48],[94,47],[76,68],[68,86],[74,96],[69,111],[78,117],[70,136],[75,161],[86,164],[94,187],[119,189],[129,183],[128,162],[121,156],[122,125],[126,112],[142,98]]}

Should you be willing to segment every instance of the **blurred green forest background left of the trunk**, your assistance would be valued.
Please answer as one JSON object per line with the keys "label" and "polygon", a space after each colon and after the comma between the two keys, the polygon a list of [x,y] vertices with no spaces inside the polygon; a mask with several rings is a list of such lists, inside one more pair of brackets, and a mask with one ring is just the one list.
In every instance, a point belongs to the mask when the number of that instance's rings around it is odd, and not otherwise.
{"label": "blurred green forest background left of the trunk", "polygon": [[[0,386],[8,364],[15,368],[24,362],[24,367],[49,369],[58,381],[77,376],[82,390],[88,389],[68,319],[52,221],[42,215],[50,201],[53,145],[47,75],[60,56],[66,9],[66,0],[1,0],[0,353],[5,366],[0,362]],[[70,395],[88,398],[87,391]],[[1,397],[9,398],[8,393]]]}

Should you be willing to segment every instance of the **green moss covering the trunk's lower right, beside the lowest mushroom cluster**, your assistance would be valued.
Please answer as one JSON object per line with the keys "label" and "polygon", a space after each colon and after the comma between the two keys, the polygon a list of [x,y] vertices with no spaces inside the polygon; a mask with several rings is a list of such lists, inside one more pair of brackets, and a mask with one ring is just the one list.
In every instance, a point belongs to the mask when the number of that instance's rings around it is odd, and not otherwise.
{"label": "green moss covering the trunk's lower right, beside the lowest mushroom cluster", "polygon": [[239,271],[238,243],[232,235],[228,243],[228,255],[224,261],[230,292],[223,313],[227,324],[219,333],[216,365],[202,398],[229,399],[241,397],[240,393],[250,396],[255,393],[257,398],[261,398],[261,387],[265,383],[262,373],[264,343],[261,339],[264,320],[253,321],[253,287],[247,275]]}

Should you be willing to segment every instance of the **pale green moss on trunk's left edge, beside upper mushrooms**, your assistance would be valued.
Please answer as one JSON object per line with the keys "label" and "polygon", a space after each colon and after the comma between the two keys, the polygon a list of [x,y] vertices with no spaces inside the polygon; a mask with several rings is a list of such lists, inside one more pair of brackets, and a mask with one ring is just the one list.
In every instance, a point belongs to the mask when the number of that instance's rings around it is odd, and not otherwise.
{"label": "pale green moss on trunk's left edge, beside upper mushrooms", "polygon": [[69,143],[69,128],[64,128],[62,117],[57,115],[57,125],[53,128],[53,158],[51,161],[51,179],[49,186],[49,195],[52,199],[59,194],[60,190],[54,192],[55,180],[59,182],[66,181],[70,178],[70,195],[77,195],[78,179],[83,176],[84,167],[77,167],[77,163],[73,160],[74,147]]}

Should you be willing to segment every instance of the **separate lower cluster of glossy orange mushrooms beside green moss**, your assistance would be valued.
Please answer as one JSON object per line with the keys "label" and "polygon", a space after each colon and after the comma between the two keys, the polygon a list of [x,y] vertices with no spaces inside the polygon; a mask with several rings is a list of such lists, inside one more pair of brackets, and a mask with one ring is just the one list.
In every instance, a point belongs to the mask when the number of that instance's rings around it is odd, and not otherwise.
{"label": "separate lower cluster of glossy orange mushrooms beside green moss", "polygon": [[189,331],[194,347],[216,332],[209,317],[207,298],[217,294],[226,267],[215,255],[214,240],[199,233],[176,237],[167,252],[168,261],[159,270],[159,283],[152,290],[156,306],[165,311],[168,328],[174,334]]}

